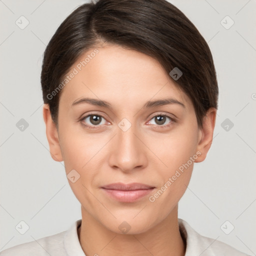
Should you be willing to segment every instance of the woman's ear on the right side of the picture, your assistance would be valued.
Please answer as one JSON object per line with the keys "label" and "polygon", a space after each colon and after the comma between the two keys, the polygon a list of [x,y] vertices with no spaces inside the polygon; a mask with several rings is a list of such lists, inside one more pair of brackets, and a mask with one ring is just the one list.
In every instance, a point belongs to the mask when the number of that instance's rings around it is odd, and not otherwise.
{"label": "woman's ear on the right side of the picture", "polygon": [[201,154],[198,154],[198,157],[194,160],[195,162],[201,162],[206,158],[212,142],[215,119],[216,108],[210,107],[206,112],[206,116],[203,118],[202,127],[198,131],[199,135],[196,150]]}

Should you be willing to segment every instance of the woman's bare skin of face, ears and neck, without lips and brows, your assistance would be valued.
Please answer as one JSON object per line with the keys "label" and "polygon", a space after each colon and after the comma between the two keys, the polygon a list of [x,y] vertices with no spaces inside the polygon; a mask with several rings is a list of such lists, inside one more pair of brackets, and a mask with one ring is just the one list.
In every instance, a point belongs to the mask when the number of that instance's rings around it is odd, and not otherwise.
{"label": "woman's bare skin of face, ears and neck, without lips and brows", "polygon": [[[70,70],[92,50],[82,54]],[[117,45],[107,44],[98,50],[62,88],[58,129],[48,105],[43,106],[52,158],[64,161],[66,174],[75,169],[80,175],[74,183],[68,182],[81,203],[78,237],[82,249],[87,256],[184,255],[178,201],[189,183],[193,163],[203,161],[210,148],[216,109],[207,111],[199,128],[191,100],[157,60]],[[112,108],[88,103],[71,106],[81,97],[105,100]],[[166,104],[142,108],[148,100],[165,97],[175,98],[185,107]],[[99,124],[86,117],[91,112],[102,116]],[[160,114],[176,119],[166,117],[160,125],[153,117]],[[126,131],[118,126],[123,118],[131,124]],[[82,123],[97,128],[86,128]],[[200,152],[197,159],[150,202],[148,197],[196,151]],[[156,188],[135,202],[119,202],[100,188],[113,182],[140,182]],[[118,228],[123,221],[130,226],[127,233]]]}

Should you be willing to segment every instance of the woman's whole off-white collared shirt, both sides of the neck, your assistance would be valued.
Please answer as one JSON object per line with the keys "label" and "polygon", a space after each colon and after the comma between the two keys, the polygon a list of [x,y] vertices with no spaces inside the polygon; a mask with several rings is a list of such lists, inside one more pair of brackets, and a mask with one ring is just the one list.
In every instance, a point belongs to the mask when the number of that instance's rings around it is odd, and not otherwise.
{"label": "woman's whole off-white collared shirt, both sides of the neck", "polygon": [[[80,245],[76,220],[66,231],[18,244],[2,250],[0,256],[86,256]],[[197,233],[185,220],[178,218],[179,231],[186,240],[185,256],[248,256],[219,240]],[[100,252],[95,255],[100,256]]]}

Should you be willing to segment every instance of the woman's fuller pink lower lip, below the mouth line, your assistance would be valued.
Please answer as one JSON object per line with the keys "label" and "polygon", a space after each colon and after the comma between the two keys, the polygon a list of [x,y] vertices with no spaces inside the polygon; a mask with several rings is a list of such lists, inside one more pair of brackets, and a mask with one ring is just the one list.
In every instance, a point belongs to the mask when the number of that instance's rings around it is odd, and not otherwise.
{"label": "woman's fuller pink lower lip, below the mouth line", "polygon": [[115,190],[115,189],[102,189],[112,198],[121,202],[133,202],[139,198],[149,194],[154,188],[138,189],[138,190]]}

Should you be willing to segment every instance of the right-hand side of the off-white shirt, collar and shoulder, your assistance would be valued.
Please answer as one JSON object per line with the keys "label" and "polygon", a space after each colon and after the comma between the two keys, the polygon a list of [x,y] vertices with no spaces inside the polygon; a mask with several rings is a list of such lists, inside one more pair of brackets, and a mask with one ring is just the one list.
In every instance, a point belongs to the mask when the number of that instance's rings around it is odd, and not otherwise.
{"label": "right-hand side of the off-white shirt, collar and shoulder", "polygon": [[179,230],[186,239],[185,256],[249,256],[217,239],[197,233],[185,220],[178,219]]}

